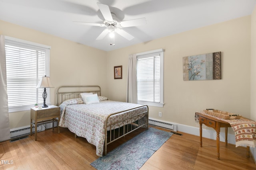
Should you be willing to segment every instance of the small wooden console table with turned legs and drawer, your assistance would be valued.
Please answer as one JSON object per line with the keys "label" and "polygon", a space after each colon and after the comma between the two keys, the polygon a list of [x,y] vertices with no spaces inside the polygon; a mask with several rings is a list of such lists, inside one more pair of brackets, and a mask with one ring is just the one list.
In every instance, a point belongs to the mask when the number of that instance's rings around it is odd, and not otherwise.
{"label": "small wooden console table with turned legs and drawer", "polygon": [[[196,112],[199,115],[199,124],[200,124],[200,147],[202,147],[202,124],[212,127],[216,131],[216,142],[217,142],[217,159],[220,159],[220,128],[225,127],[225,145],[228,145],[228,127],[231,125],[220,119],[216,119],[212,116],[204,115],[200,112]],[[250,147],[247,146],[246,156],[250,157]]]}

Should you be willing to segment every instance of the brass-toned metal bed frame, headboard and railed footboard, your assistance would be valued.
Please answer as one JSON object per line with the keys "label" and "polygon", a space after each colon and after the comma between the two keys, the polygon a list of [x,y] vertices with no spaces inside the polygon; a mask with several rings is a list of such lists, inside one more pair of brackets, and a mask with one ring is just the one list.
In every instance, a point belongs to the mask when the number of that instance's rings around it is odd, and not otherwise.
{"label": "brass-toned metal bed frame, headboard and railed footboard", "polygon": [[[64,91],[61,92],[61,90],[63,89],[70,89],[71,88],[71,92],[70,91]],[[74,92],[73,92],[73,90]],[[84,90],[82,90],[84,89]],[[86,90],[89,89],[89,90]],[[76,91],[78,90],[78,91]],[[61,104],[62,102],[64,102],[65,100],[68,99],[73,99],[73,98],[81,98],[80,93],[89,93],[92,92],[93,94],[98,94],[98,96],[100,96],[101,94],[101,89],[100,86],[60,86],[57,89],[57,106],[59,106],[59,104]],[[140,128],[140,127],[146,127],[148,129],[148,106],[147,107],[147,111],[142,112],[142,113],[138,113],[137,115],[134,115],[132,117],[128,117],[126,119],[123,119],[121,121],[118,122],[114,122],[111,124],[108,124],[108,119],[112,116],[112,115],[116,115],[118,113],[122,113],[125,111],[130,111],[133,109],[138,109],[140,107],[145,107],[146,105],[143,106],[139,106],[136,108],[132,108],[132,109],[128,109],[128,110],[124,110],[124,111],[120,111],[120,112],[116,112],[116,113],[112,113],[110,115],[108,115],[108,117],[105,120],[105,142],[104,142],[104,150],[105,150],[105,155],[107,154],[107,145],[120,139],[121,137],[124,137],[125,135],[127,135],[128,133],[131,133],[132,131],[135,131],[136,129]],[[145,123],[142,123],[139,125],[139,119],[141,117],[141,115],[145,115],[143,117],[145,117]],[[143,118],[142,117],[142,118]],[[125,122],[128,119],[134,119],[136,121],[123,125],[122,127],[118,127],[116,129],[112,129],[113,127],[115,127],[115,125],[118,125],[119,123]],[[107,129],[110,129],[110,131],[107,131]],[[117,135],[116,135],[117,134]],[[75,134],[76,137],[76,134]]]}

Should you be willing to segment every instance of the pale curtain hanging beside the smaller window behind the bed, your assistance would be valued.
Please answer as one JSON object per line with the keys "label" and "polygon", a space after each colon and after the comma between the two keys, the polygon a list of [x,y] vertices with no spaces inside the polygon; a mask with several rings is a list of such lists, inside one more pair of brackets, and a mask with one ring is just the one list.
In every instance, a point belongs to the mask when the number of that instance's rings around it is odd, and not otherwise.
{"label": "pale curtain hanging beside the smaller window behind the bed", "polygon": [[137,96],[137,57],[136,54],[129,55],[128,62],[128,84],[127,84],[127,94],[126,102],[138,103]]}

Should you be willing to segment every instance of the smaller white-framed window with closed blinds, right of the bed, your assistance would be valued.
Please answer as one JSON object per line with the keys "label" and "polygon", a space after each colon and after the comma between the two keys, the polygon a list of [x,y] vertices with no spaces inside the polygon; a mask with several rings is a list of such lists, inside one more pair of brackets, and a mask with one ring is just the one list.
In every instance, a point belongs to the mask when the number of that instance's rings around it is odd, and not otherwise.
{"label": "smaller white-framed window with closed blinds, right of the bed", "polygon": [[138,104],[164,105],[164,50],[158,49],[137,55]]}

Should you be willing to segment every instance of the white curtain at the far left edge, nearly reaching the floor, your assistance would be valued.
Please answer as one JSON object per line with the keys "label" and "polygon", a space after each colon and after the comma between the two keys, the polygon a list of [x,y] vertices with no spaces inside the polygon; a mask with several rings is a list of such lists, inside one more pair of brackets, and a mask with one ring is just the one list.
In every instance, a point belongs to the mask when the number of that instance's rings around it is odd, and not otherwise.
{"label": "white curtain at the far left edge, nearly reaching the floor", "polygon": [[4,35],[0,35],[0,141],[10,139]]}

